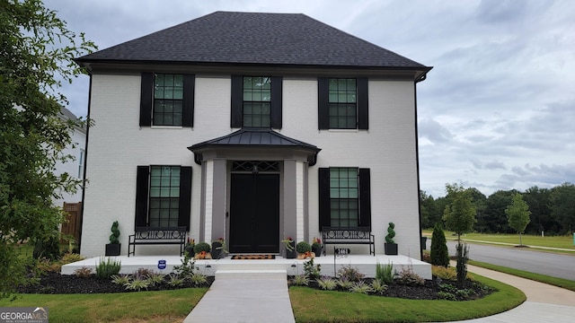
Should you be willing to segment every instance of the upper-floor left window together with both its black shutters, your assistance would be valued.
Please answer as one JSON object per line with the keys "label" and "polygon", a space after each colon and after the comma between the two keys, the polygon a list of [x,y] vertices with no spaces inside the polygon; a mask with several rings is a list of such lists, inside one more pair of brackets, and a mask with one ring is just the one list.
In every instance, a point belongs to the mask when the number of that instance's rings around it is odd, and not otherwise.
{"label": "upper-floor left window together with both its black shutters", "polygon": [[193,127],[193,74],[142,73],[140,127]]}

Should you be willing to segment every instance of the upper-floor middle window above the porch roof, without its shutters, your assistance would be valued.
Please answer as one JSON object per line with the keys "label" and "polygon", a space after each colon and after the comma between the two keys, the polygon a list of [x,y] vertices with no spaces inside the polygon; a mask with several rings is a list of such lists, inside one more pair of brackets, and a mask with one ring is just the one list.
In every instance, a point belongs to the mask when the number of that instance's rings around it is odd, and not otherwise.
{"label": "upper-floor middle window above the porch roof, without its shutters", "polygon": [[271,78],[243,76],[243,127],[271,127]]}

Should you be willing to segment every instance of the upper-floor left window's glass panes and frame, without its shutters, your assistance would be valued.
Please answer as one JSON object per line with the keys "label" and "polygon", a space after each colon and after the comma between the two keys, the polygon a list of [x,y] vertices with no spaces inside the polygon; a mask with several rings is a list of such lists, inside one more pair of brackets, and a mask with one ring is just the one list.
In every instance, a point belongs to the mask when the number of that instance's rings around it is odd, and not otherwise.
{"label": "upper-floor left window's glass panes and frame, without its shutters", "polygon": [[181,126],[182,74],[154,74],[154,126]]}

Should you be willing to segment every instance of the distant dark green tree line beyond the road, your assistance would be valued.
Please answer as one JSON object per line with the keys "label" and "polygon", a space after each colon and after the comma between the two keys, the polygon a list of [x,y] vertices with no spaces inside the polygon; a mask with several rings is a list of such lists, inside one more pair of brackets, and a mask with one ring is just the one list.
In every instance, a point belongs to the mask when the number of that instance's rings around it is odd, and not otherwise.
{"label": "distant dark green tree line beyond the road", "polygon": [[[520,194],[529,207],[530,222],[526,226],[527,234],[565,235],[575,229],[575,185],[563,183],[554,188],[527,188],[525,192],[516,189],[499,190],[485,196],[477,188],[465,188],[472,198],[476,210],[476,223],[473,231],[483,233],[516,233],[509,226],[506,208],[511,205],[513,196]],[[447,195],[434,198],[420,191],[421,226],[433,228],[442,220],[447,205],[454,201],[455,194],[447,190]]]}

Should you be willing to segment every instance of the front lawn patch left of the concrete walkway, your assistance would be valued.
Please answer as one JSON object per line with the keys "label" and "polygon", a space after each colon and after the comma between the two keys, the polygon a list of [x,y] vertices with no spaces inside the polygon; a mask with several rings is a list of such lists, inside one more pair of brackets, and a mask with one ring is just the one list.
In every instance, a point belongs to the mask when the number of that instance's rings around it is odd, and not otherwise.
{"label": "front lawn patch left of the concrete walkway", "polygon": [[50,322],[181,322],[207,291],[21,294],[0,307],[48,307]]}

